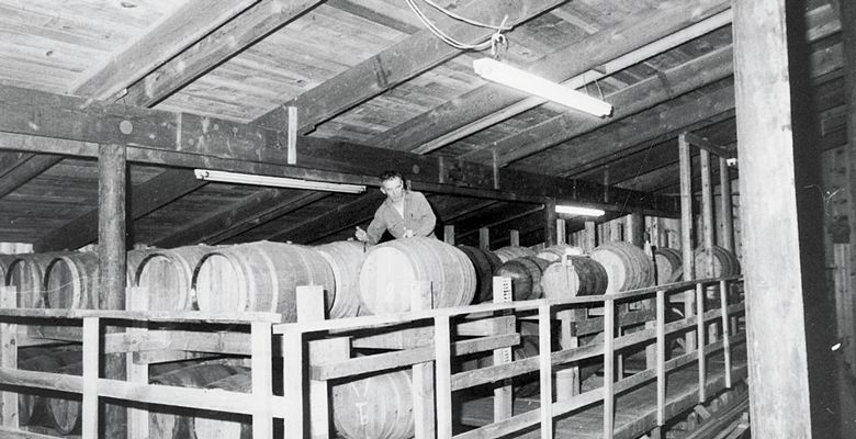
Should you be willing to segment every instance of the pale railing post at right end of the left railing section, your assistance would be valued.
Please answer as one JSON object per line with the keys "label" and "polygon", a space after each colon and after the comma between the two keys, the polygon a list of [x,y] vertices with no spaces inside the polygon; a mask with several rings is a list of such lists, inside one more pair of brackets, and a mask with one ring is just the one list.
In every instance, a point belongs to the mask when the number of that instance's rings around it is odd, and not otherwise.
{"label": "pale railing post at right end of the left railing section", "polygon": [[273,395],[273,365],[271,362],[271,324],[254,322],[250,325],[250,352],[252,354],[252,437],[273,439],[271,396]]}

